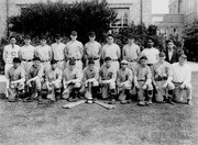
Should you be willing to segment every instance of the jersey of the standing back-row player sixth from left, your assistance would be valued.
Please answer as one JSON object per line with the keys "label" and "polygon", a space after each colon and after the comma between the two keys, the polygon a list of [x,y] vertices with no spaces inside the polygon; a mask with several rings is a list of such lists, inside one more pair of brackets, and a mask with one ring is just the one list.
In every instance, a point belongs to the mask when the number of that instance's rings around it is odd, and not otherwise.
{"label": "jersey of the standing back-row player sixth from left", "polygon": [[98,42],[88,42],[85,45],[85,55],[87,58],[99,58],[101,45]]}

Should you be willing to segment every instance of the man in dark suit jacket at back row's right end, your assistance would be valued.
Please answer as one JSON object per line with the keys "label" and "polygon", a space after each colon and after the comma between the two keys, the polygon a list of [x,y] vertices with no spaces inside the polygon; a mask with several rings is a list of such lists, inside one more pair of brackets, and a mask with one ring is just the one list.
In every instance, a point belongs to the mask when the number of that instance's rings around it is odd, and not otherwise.
{"label": "man in dark suit jacket at back row's right end", "polygon": [[178,62],[178,52],[175,48],[173,41],[167,42],[167,49],[166,49],[166,62],[169,64],[174,64]]}

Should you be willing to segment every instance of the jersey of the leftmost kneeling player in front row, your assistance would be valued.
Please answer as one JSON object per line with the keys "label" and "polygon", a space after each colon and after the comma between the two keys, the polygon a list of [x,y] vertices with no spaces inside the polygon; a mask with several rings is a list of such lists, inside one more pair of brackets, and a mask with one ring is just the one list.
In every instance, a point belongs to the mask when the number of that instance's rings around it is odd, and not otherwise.
{"label": "jersey of the leftmost kneeling player in front row", "polygon": [[25,79],[24,70],[21,67],[18,67],[16,69],[12,66],[7,74],[7,78],[10,81],[15,81],[19,79]]}

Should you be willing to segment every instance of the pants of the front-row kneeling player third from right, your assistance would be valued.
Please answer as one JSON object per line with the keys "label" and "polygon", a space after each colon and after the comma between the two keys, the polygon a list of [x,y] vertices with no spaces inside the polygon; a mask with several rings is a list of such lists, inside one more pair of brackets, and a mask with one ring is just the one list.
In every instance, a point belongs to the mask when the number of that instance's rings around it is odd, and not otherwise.
{"label": "pants of the front-row kneeling player third from right", "polygon": [[[139,101],[144,101],[145,100],[145,92],[146,91],[153,91],[153,86],[152,83],[146,86],[146,89],[142,89],[144,86],[145,81],[139,81],[140,90],[138,91],[138,100]],[[152,96],[150,96],[152,98]]]}

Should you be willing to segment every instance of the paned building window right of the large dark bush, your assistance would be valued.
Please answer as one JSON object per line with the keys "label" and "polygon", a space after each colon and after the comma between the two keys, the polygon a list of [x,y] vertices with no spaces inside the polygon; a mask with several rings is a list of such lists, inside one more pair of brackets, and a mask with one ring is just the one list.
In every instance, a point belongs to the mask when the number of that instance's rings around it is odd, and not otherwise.
{"label": "paned building window right of the large dark bush", "polygon": [[112,8],[117,13],[118,21],[111,24],[113,32],[118,32],[120,27],[125,27],[129,24],[129,8]]}

